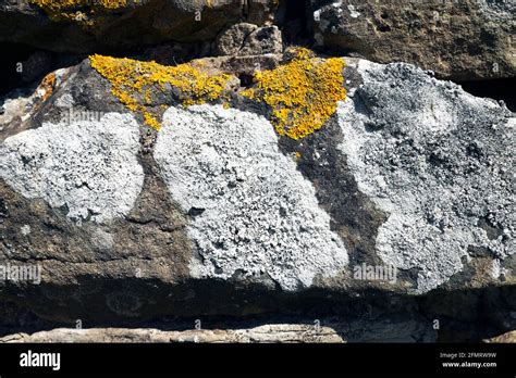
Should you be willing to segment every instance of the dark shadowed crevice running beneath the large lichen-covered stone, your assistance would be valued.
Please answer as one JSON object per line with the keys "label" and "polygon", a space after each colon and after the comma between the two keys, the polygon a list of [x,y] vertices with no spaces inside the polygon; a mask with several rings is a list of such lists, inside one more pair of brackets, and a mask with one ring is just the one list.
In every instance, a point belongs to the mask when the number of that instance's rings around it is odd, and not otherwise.
{"label": "dark shadowed crevice running beneath the large lichen-covered stone", "polygon": [[[15,291],[4,289],[11,298]],[[84,276],[76,285],[28,286],[15,302],[0,301],[0,336],[75,328],[78,319],[84,328],[162,330],[192,329],[195,319],[204,329],[318,319],[349,342],[478,342],[514,329],[515,295],[511,287],[438,289],[420,297],[368,289],[349,295],[323,289],[286,293],[223,280]]]}

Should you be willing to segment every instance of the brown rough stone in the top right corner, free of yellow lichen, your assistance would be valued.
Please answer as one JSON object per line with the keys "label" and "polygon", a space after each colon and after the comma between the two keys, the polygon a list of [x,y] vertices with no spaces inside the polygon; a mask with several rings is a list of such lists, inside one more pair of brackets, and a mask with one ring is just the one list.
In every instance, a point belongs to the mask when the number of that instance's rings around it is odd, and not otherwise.
{"label": "brown rough stone in the top right corner, free of yellow lichen", "polygon": [[316,40],[459,80],[516,76],[512,1],[312,1]]}

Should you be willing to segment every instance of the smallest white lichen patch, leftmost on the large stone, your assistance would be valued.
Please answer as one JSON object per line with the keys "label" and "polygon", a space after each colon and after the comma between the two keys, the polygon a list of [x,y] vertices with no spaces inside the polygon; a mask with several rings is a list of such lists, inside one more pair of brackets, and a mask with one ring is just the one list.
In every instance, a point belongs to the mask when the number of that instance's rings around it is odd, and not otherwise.
{"label": "smallest white lichen patch, leftmost on the large stone", "polygon": [[134,206],[144,172],[138,125],[128,114],[44,124],[4,140],[0,177],[29,199],[65,207],[76,222],[102,223]]}

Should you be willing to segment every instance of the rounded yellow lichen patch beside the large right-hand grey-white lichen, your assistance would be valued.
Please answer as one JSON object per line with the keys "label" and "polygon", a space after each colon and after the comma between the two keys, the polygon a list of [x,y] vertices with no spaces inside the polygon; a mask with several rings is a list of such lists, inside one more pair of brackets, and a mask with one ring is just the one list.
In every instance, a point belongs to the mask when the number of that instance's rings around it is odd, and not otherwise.
{"label": "rounded yellow lichen patch beside the large right-hand grey-white lichen", "polygon": [[314,58],[310,50],[297,48],[287,53],[292,61],[255,75],[256,86],[242,92],[272,111],[279,135],[302,139],[320,129],[344,100],[344,61]]}

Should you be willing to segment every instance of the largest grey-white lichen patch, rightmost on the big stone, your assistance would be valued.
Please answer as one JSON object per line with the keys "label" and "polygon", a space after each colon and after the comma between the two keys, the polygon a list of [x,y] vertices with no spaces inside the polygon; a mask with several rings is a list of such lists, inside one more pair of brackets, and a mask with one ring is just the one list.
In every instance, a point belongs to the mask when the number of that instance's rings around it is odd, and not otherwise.
{"label": "largest grey-white lichen patch, rightmost on the big stone", "polygon": [[341,144],[360,191],[384,212],[377,251],[417,272],[416,291],[477,257],[484,279],[514,281],[516,117],[408,64],[359,61],[364,84],[339,109]]}

